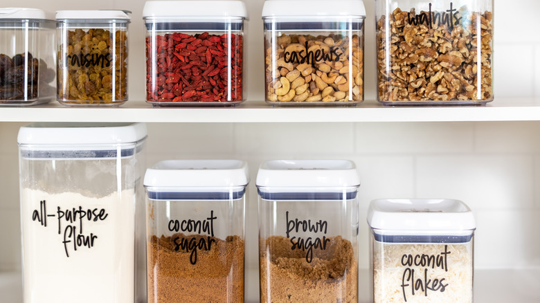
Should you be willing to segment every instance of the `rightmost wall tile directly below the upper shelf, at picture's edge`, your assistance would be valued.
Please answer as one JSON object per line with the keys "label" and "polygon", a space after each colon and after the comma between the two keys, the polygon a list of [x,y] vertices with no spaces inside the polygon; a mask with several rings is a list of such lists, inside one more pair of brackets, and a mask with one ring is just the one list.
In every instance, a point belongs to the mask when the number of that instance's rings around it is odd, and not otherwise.
{"label": "rightmost wall tile directly below the upper shelf, at picture's edge", "polygon": [[540,152],[537,122],[481,122],[475,127],[475,151],[480,153]]}

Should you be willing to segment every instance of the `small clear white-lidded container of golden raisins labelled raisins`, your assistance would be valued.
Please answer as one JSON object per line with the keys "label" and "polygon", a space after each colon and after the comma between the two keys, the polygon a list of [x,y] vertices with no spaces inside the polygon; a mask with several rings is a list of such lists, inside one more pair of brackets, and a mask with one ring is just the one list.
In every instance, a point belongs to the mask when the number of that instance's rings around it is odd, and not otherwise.
{"label": "small clear white-lidded container of golden raisins labelled raisins", "polygon": [[125,10],[60,10],[57,100],[68,106],[118,106],[127,101]]}

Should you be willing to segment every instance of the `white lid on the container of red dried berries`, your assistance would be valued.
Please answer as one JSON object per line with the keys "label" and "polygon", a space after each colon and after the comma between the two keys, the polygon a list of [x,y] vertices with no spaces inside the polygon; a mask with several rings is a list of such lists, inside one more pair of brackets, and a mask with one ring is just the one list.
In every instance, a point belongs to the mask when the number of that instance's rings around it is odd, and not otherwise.
{"label": "white lid on the container of red dried berries", "polygon": [[153,17],[241,17],[245,19],[247,11],[242,1],[146,1],[143,18]]}

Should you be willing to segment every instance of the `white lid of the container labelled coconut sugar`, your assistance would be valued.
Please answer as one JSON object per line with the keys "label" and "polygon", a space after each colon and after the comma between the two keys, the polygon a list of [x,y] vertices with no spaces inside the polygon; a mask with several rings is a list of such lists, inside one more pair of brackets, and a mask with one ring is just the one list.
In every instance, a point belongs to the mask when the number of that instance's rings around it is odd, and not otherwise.
{"label": "white lid of the container labelled coconut sugar", "polygon": [[146,170],[145,187],[245,187],[248,165],[240,160],[165,160]]}

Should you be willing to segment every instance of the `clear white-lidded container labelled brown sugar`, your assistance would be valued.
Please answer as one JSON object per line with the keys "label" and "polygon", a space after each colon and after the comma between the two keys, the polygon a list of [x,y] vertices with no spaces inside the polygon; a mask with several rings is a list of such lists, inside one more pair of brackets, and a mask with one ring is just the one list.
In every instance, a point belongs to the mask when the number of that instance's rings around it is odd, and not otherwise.
{"label": "clear white-lidded container labelled brown sugar", "polygon": [[348,160],[260,166],[260,302],[358,302],[359,184]]}

